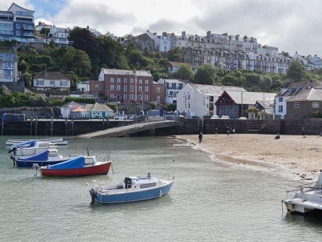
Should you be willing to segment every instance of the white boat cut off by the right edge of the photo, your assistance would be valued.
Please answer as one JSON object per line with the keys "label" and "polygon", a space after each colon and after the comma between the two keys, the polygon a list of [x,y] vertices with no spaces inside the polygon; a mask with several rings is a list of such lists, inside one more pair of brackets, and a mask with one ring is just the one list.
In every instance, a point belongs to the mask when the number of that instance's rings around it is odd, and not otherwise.
{"label": "white boat cut off by the right edge of the photo", "polygon": [[322,210],[322,170],[317,181],[297,186],[296,189],[286,191],[295,192],[291,198],[282,200],[290,212],[305,214],[314,210]]}

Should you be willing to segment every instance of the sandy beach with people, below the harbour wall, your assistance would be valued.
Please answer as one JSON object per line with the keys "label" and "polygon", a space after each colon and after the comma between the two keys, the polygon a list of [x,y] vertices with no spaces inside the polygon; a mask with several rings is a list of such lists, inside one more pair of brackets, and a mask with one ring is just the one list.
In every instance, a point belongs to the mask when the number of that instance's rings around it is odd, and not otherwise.
{"label": "sandy beach with people, below the harbour wall", "polygon": [[319,136],[281,135],[279,140],[275,140],[275,135],[203,135],[201,144],[198,144],[198,135],[180,135],[178,138],[187,139],[191,145],[215,153],[219,159],[233,157],[265,161],[283,165],[294,172],[322,169],[322,137]]}

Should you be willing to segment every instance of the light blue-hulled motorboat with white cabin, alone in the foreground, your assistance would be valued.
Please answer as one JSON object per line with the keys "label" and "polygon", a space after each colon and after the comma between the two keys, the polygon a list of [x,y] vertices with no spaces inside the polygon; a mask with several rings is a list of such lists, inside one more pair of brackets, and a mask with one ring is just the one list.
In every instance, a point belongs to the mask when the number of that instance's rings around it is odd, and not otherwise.
{"label": "light blue-hulled motorboat with white cabin, alone in the foreground", "polygon": [[[150,173],[145,177],[129,176],[125,177],[119,184],[100,185],[90,190],[92,202],[103,204],[108,203],[125,203],[152,198],[162,197],[168,194],[172,188],[175,177],[167,180],[151,177]],[[93,181],[93,185],[96,181]]]}

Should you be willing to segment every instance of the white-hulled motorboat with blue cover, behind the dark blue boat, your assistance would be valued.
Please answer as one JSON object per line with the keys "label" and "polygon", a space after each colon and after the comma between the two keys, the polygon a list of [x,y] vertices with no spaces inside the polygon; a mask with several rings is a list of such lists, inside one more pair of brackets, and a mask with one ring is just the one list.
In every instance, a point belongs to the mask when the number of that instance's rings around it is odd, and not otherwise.
{"label": "white-hulled motorboat with blue cover, behind the dark blue boat", "polygon": [[26,141],[9,148],[9,153],[14,152],[15,156],[34,155],[49,148],[55,148],[56,145],[50,142],[39,142],[37,140]]}

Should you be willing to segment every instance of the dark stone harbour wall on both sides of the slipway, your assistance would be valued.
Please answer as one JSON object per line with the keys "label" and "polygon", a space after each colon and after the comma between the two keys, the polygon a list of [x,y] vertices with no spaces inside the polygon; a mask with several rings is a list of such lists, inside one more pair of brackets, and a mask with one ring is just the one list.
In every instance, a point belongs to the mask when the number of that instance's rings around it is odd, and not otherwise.
{"label": "dark stone harbour wall on both sides of the slipway", "polygon": [[[75,136],[104,130],[123,125],[118,120],[56,120],[33,119],[27,121],[1,122],[0,135],[24,136]],[[320,135],[322,133],[322,119],[298,120],[237,120],[237,119],[185,119],[180,120],[179,127],[168,127],[144,131],[131,136],[161,136],[180,134],[214,134],[215,128],[219,134],[225,134],[227,126],[236,130],[236,133],[259,134],[289,134],[289,135]],[[254,128],[255,127],[255,128]],[[256,128],[257,127],[257,128]],[[260,129],[259,129],[260,127]],[[258,130],[256,130],[258,129]]]}

